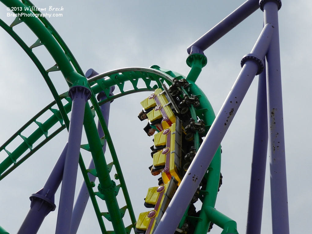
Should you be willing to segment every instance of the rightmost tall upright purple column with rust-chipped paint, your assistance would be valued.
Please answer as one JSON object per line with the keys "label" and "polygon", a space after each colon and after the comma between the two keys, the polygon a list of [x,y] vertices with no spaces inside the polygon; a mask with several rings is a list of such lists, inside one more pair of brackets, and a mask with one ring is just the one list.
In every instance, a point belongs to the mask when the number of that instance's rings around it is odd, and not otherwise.
{"label": "rightmost tall upright purple column with rust-chipped paint", "polygon": [[[269,114],[269,154],[271,177],[272,233],[288,234],[288,199],[286,181],[286,160],[282,85],[280,73],[280,42],[278,30],[278,9],[281,2],[261,1],[264,9],[264,23],[274,26],[271,46],[266,55],[266,75]],[[260,6],[261,6],[260,2]]]}

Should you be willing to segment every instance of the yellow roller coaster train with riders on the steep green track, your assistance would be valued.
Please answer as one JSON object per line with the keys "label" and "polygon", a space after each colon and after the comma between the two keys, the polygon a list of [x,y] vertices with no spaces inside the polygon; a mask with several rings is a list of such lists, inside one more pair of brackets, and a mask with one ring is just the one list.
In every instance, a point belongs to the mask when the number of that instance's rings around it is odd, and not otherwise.
{"label": "yellow roller coaster train with riders on the steep green track", "polygon": [[[136,233],[153,234],[195,157],[195,134],[199,136],[201,144],[201,137],[207,131],[203,120],[192,118],[192,108],[194,110],[199,106],[199,100],[197,96],[185,92],[188,86],[187,80],[173,78],[169,89],[163,84],[163,89],[156,89],[141,102],[143,110],[138,117],[141,121],[148,120],[144,130],[149,136],[154,135],[154,145],[151,146],[153,165],[149,169],[153,175],[161,174],[161,177],[158,179],[158,186],[148,189],[144,206],[152,210],[139,214]],[[190,217],[198,217],[200,212],[196,212],[193,203],[197,202],[201,190],[205,190],[206,183],[204,177],[176,229],[176,234],[193,233],[195,224]]]}

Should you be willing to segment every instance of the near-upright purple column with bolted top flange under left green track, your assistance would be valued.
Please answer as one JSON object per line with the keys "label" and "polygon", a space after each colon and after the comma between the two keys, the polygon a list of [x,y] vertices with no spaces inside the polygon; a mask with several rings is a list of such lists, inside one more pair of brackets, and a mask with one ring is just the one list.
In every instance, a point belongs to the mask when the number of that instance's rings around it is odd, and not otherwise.
{"label": "near-upright purple column with bolted top flange under left green track", "polygon": [[69,89],[69,95],[73,104],[68,131],[68,149],[64,165],[60,205],[57,214],[56,234],[70,233],[85,105],[90,98],[91,92],[84,86],[73,86]]}

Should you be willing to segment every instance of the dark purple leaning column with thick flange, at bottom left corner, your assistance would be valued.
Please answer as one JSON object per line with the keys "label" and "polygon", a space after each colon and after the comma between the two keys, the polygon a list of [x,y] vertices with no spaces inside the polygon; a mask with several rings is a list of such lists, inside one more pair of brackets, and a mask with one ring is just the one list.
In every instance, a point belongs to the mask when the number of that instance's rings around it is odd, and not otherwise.
{"label": "dark purple leaning column with thick flange, at bottom left corner", "polygon": [[44,218],[55,210],[54,195],[62,181],[66,152],[67,143],[43,188],[30,196],[30,210],[17,234],[36,234]]}

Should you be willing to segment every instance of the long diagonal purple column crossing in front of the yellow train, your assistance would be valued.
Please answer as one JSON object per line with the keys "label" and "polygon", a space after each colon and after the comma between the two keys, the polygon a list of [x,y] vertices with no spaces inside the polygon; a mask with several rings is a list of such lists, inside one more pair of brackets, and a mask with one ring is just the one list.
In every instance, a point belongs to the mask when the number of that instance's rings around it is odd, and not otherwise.
{"label": "long diagonal purple column crossing in front of the yellow train", "polygon": [[266,55],[270,45],[273,30],[271,25],[265,25],[251,51],[252,54],[246,55],[242,59],[242,69],[232,90],[224,101],[154,234],[173,234],[178,227],[253,78],[264,68],[262,58]]}

